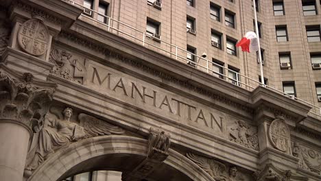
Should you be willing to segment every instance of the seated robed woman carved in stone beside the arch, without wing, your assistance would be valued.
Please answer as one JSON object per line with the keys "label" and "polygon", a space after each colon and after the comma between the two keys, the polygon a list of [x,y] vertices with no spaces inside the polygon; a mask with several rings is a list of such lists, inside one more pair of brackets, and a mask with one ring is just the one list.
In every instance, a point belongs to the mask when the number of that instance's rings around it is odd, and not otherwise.
{"label": "seated robed woman carved in stone beside the arch, without wing", "polygon": [[67,145],[71,141],[84,138],[86,135],[84,128],[70,121],[73,114],[71,108],[64,109],[63,114],[63,119],[50,119],[46,117],[50,125],[39,132],[36,154],[32,162],[26,167],[27,170],[36,169],[45,160],[46,156],[54,152],[54,149]]}

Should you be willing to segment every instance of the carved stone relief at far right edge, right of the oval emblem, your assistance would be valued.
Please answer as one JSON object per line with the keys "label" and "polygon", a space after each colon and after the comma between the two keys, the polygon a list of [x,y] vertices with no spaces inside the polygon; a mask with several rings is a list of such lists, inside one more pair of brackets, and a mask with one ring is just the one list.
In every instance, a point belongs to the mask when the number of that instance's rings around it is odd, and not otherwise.
{"label": "carved stone relief at far right edge, right of the oval emblem", "polygon": [[321,175],[321,152],[299,145],[299,143],[294,143],[292,154],[300,159],[298,161],[300,169]]}

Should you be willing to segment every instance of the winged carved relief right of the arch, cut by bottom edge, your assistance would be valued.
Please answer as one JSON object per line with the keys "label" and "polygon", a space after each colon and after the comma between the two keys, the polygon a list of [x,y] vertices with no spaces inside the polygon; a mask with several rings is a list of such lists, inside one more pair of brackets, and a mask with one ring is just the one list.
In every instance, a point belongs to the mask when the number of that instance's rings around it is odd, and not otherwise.
{"label": "winged carved relief right of the arch, cut by bottom edge", "polygon": [[241,181],[241,180],[249,180],[242,173],[237,171],[237,167],[228,167],[223,162],[219,162],[214,159],[205,158],[202,156],[198,156],[192,153],[186,154],[187,158],[195,162],[198,166],[200,166],[204,171],[209,173],[209,175],[214,180],[224,180],[224,181]]}

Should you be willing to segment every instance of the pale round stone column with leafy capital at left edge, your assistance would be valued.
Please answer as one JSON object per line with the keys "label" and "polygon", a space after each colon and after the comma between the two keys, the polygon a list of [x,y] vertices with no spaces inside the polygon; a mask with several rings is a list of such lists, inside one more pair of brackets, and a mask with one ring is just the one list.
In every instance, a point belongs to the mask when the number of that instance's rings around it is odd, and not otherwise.
{"label": "pale round stone column with leafy capital at left edge", "polygon": [[29,140],[42,128],[55,87],[0,64],[1,180],[23,180]]}

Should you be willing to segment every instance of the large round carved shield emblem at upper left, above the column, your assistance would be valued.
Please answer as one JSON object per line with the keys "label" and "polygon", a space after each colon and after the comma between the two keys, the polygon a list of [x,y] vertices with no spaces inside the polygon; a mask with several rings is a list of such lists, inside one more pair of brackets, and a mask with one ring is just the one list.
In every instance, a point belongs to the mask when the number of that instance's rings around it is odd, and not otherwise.
{"label": "large round carved shield emblem at upper left, above the column", "polygon": [[30,19],[19,29],[18,42],[21,48],[34,56],[41,56],[48,48],[49,31],[40,19]]}

